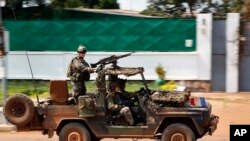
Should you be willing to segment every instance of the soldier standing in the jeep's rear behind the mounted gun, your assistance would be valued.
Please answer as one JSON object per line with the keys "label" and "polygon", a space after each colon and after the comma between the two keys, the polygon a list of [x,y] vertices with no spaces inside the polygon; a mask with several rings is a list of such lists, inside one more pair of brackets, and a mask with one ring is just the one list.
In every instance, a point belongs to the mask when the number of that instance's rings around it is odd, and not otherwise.
{"label": "soldier standing in the jeep's rear behind the mounted gun", "polygon": [[76,101],[78,101],[79,96],[86,94],[85,81],[90,79],[90,73],[95,72],[95,68],[91,68],[84,60],[86,52],[86,47],[80,44],[77,56],[71,60],[67,71],[67,77],[70,78],[73,85],[73,96]]}

